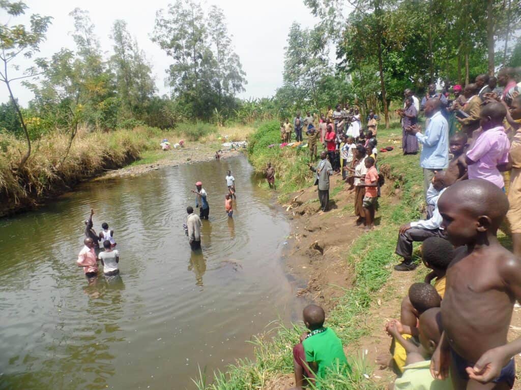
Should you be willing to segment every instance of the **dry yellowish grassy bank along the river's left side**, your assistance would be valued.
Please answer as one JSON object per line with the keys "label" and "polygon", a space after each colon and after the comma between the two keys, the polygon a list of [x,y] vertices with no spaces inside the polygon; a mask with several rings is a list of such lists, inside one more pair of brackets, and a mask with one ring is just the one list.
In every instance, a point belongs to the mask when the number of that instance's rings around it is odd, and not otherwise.
{"label": "dry yellowish grassy bank along the river's left side", "polygon": [[180,124],[170,131],[146,126],[112,132],[80,129],[68,153],[69,135],[56,131],[32,142],[31,157],[21,172],[13,167],[26,150],[25,142],[0,133],[0,216],[29,209],[107,170],[164,159],[166,154],[159,147],[163,138],[172,144],[184,139],[187,147],[199,142],[220,148],[223,137],[244,140],[252,131],[247,126],[204,123]]}

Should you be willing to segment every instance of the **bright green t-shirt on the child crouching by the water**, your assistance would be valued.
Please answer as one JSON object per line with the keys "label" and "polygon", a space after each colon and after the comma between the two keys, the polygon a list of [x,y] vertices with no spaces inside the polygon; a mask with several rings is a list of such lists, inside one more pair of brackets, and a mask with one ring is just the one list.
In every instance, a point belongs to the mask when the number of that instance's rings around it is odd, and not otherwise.
{"label": "bright green t-shirt on the child crouching by the water", "polygon": [[307,337],[302,342],[304,352],[306,353],[306,361],[316,361],[318,364],[317,379],[326,376],[326,370],[337,364],[348,366],[348,360],[345,358],[342,342],[331,328]]}

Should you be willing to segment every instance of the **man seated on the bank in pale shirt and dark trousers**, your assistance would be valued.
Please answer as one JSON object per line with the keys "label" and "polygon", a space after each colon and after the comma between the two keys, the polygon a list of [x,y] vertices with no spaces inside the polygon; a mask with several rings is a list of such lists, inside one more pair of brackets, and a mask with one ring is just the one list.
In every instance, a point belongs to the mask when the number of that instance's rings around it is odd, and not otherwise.
{"label": "man seated on the bank in pale shirt and dark trousers", "polygon": [[[446,188],[444,172],[436,172],[432,179],[432,186],[436,190],[440,191],[440,195],[443,193]],[[413,242],[423,242],[429,237],[444,238],[445,234],[443,229],[440,229],[441,220],[442,218],[438,211],[438,200],[436,200],[434,210],[432,211],[432,217],[430,219],[411,222],[400,228],[395,253],[402,256],[403,261],[401,264],[394,266],[396,271],[412,271],[416,268],[417,264],[413,263],[412,259]]]}

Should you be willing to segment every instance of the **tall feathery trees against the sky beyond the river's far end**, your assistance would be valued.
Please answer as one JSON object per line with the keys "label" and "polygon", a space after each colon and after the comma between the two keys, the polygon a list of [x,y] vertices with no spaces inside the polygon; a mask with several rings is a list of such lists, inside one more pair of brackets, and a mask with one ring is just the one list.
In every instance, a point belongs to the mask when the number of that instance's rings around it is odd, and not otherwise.
{"label": "tall feathery trees against the sky beyond the river's far end", "polygon": [[213,12],[215,20],[210,22],[201,4],[177,0],[167,11],[157,11],[152,37],[173,60],[167,70],[172,98],[191,118],[205,120],[216,111],[232,112],[234,95],[245,83],[239,57],[230,48],[224,15],[218,8]]}

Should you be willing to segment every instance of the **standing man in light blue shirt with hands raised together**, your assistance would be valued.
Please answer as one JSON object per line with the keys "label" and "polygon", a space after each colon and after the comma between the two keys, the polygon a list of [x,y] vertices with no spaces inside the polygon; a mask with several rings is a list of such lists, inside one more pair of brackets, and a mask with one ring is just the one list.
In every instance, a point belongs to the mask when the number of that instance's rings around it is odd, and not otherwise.
{"label": "standing man in light blue shirt with hands raised together", "polygon": [[441,114],[442,102],[440,99],[429,99],[425,105],[425,116],[430,118],[425,134],[421,134],[421,128],[414,125],[407,131],[416,136],[423,146],[420,154],[420,166],[424,173],[424,194],[427,198],[427,190],[436,171],[442,171],[449,166],[449,124]]}

